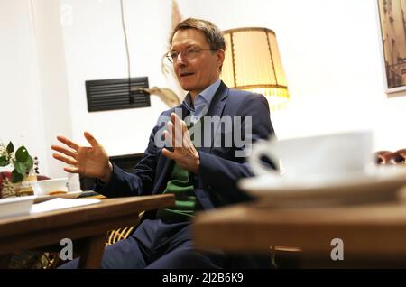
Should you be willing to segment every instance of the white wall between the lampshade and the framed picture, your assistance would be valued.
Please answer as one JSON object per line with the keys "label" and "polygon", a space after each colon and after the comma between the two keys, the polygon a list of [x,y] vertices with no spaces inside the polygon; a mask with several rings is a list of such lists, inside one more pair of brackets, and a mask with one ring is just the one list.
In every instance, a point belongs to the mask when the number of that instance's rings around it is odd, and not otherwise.
{"label": "white wall between the lampshade and the framed picture", "polygon": [[406,97],[388,98],[384,92],[375,0],[179,4],[184,17],[208,19],[222,30],[263,26],[276,32],[291,96],[288,108],[272,114],[280,138],[371,128],[375,149],[406,146],[400,130]]}

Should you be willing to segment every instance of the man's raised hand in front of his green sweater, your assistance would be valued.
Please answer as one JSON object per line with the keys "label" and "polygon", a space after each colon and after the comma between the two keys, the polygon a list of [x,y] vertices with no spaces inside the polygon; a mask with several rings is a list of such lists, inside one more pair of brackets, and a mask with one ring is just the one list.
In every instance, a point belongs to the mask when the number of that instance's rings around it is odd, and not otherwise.
{"label": "man's raised hand in front of his green sweater", "polygon": [[163,148],[162,154],[174,160],[181,168],[197,174],[200,159],[198,151],[190,139],[186,123],[178,115],[171,113],[171,121],[168,122],[167,130],[163,132],[163,135],[172,143],[173,152]]}

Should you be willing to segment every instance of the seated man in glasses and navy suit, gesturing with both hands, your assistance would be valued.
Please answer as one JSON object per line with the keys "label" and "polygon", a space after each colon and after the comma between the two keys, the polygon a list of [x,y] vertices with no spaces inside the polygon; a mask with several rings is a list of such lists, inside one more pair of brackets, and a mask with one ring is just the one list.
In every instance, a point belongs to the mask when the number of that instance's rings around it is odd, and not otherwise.
{"label": "seated man in glasses and navy suit, gesturing with both hands", "polygon": [[[169,60],[189,94],[180,106],[161,114],[133,173],[109,162],[103,146],[87,132],[91,147],[62,136],[58,139],[69,148],[51,147],[62,153],[54,158],[70,165],[65,171],[97,178],[95,190],[107,197],[175,194],[174,207],[147,212],[132,236],[106,247],[103,268],[238,267],[224,253],[196,251],[189,219],[195,211],[249,199],[236,185],[253,175],[241,154],[250,142],[273,133],[268,103],[261,95],[229,89],[220,81],[226,44],[213,23],[183,21],[172,32],[170,45]],[[220,117],[220,122],[210,121]],[[235,134],[245,136],[245,144],[237,144]],[[197,144],[198,137],[202,141]]]}

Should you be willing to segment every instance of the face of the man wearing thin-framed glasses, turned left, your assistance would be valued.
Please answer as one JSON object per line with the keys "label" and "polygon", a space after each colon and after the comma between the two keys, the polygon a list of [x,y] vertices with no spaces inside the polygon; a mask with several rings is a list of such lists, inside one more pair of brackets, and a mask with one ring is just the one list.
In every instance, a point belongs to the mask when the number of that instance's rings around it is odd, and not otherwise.
{"label": "face of the man wearing thin-framed glasses, turned left", "polygon": [[[173,61],[176,77],[180,86],[189,91],[193,98],[219,77],[224,51],[213,52],[209,48],[205,34],[197,29],[179,30],[172,38],[171,51],[180,52],[179,57]],[[196,57],[190,60],[184,56],[184,52],[189,49],[198,51],[194,53]]]}

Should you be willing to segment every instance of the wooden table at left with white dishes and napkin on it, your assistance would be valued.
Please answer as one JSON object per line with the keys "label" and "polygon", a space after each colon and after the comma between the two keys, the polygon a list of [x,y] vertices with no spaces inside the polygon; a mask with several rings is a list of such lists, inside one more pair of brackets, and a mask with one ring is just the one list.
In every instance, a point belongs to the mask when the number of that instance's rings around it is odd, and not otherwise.
{"label": "wooden table at left with white dishes and napkin on it", "polygon": [[0,219],[0,267],[15,252],[59,245],[60,239],[69,238],[79,239],[73,246],[78,242],[79,267],[99,268],[106,231],[133,226],[141,211],[170,207],[174,202],[171,194],[103,199],[88,206]]}

